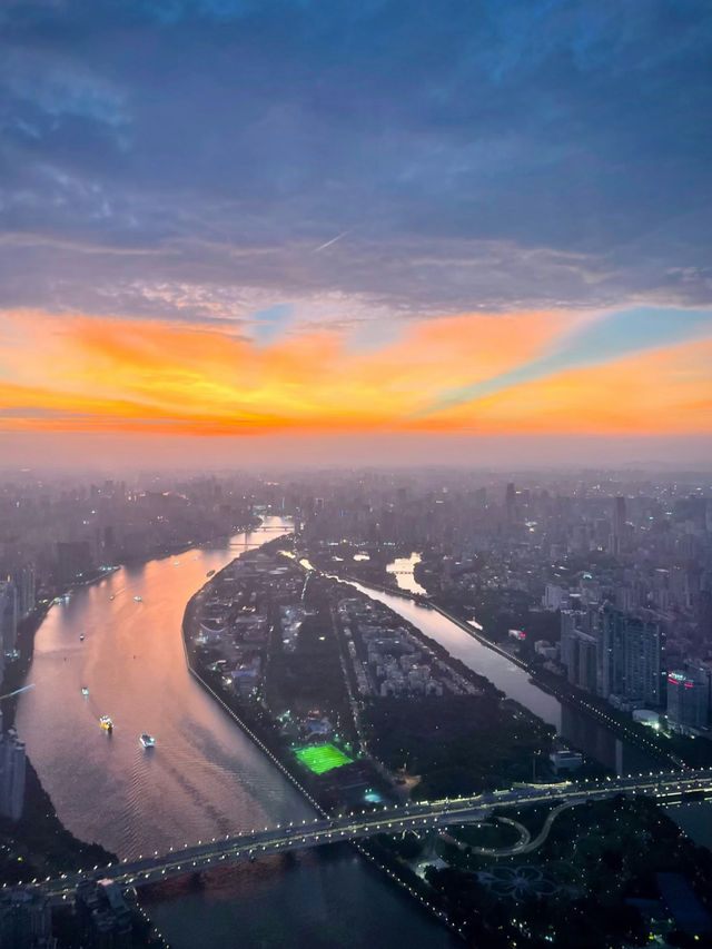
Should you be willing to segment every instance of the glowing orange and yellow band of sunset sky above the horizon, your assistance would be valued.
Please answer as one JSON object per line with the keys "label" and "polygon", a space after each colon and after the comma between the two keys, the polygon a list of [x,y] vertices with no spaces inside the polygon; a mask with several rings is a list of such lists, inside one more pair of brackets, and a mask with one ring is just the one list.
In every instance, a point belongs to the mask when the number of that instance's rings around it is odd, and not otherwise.
{"label": "glowing orange and yellow band of sunset sky above the horizon", "polygon": [[260,344],[249,325],[10,310],[0,316],[3,427],[17,444],[42,433],[702,441],[712,433],[711,324],[682,316],[664,343],[653,334],[621,346],[614,334],[621,352],[604,348],[606,330],[627,318],[636,332],[645,314],[404,320],[383,345],[360,347],[328,324]]}

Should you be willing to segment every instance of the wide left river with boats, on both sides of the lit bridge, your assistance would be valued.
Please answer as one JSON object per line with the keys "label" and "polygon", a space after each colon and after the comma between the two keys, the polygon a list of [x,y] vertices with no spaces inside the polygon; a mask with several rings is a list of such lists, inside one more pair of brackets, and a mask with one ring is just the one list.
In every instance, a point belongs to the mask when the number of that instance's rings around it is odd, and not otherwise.
{"label": "wide left river with boats, on both sides of the lit bridge", "polygon": [[[206,574],[289,530],[268,517],[230,545],[121,567],[50,609],[17,728],[77,837],[136,857],[312,814],[188,674],[181,640],[186,604]],[[113,720],[111,735],[99,728],[102,714]],[[151,751],[138,742],[142,731],[156,735]],[[149,911],[174,949],[452,945],[347,847],[216,871],[201,887],[176,881]]]}

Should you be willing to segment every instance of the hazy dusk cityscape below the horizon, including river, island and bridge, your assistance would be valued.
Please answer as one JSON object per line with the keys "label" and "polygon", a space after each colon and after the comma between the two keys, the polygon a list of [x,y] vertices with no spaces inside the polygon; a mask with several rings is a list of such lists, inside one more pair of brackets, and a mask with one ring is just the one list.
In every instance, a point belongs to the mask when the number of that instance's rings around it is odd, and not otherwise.
{"label": "hazy dusk cityscape below the horizon, including river, island and bridge", "polygon": [[8,945],[279,942],[239,894],[303,872],[421,945],[712,937],[709,477],[28,471],[1,517]]}

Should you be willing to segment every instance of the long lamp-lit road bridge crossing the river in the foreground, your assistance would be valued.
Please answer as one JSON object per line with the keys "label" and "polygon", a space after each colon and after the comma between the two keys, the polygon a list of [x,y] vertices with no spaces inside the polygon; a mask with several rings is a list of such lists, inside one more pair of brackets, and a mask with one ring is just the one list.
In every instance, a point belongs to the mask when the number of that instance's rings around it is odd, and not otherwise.
{"label": "long lamp-lit road bridge crossing the river in the foreground", "polygon": [[[277,824],[275,828],[253,830],[234,837],[198,841],[184,848],[171,848],[168,853],[140,856],[138,860],[123,860],[106,867],[95,867],[60,877],[24,881],[47,893],[52,902],[70,900],[77,886],[86,879],[116,880],[120,886],[142,886],[199,873],[214,867],[245,860],[256,860],[270,853],[286,853],[327,843],[359,840],[379,833],[431,831],[454,823],[482,822],[495,808],[526,807],[532,804],[565,803],[567,807],[587,801],[603,801],[623,794],[651,797],[664,803],[685,795],[712,798],[712,769],[693,772],[641,774],[630,778],[586,781],[578,784],[564,781],[558,784],[526,784],[506,791],[491,791],[464,798],[429,802],[408,802],[360,813],[315,818],[297,824]],[[6,884],[7,886],[7,884]]]}

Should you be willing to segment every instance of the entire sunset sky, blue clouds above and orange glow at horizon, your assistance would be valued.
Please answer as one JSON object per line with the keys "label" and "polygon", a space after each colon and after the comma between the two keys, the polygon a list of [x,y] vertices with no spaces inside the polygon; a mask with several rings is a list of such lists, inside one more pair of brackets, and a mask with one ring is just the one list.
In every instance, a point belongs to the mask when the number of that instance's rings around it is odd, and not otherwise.
{"label": "entire sunset sky, blue clouds above and orange glow at horizon", "polygon": [[0,453],[712,461],[706,0],[4,0]]}

